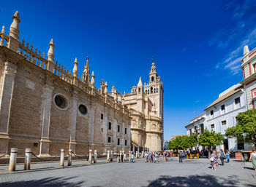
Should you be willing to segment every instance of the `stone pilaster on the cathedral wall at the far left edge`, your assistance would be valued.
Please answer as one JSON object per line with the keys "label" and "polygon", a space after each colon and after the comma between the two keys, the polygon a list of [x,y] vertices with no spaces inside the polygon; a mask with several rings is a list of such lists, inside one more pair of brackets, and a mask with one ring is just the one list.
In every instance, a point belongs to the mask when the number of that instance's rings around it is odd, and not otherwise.
{"label": "stone pilaster on the cathedral wall at the far left edge", "polygon": [[3,77],[0,80],[0,154],[7,154],[8,152],[10,110],[16,72],[17,65],[8,61],[4,63]]}

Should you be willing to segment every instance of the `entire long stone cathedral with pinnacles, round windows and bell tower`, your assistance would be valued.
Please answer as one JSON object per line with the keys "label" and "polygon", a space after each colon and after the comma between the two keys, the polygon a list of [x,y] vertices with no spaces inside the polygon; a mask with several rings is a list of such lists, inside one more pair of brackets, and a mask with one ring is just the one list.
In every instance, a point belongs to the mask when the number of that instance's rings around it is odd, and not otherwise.
{"label": "entire long stone cathedral with pinnacles, round windows and bell tower", "polygon": [[0,156],[31,148],[37,156],[56,156],[60,149],[88,154],[97,149],[129,151],[131,145],[162,150],[163,86],[154,60],[150,81],[140,79],[121,95],[108,84],[94,84],[86,58],[82,76],[78,59],[72,71],[54,59],[53,39],[45,52],[19,40],[20,17],[12,16],[9,34],[0,32]]}

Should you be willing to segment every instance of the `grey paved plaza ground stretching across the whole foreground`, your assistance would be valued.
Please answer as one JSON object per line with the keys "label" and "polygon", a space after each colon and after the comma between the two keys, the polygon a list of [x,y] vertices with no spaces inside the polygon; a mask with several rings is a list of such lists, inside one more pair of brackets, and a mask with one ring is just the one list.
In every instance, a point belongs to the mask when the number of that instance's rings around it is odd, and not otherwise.
{"label": "grey paved plaza ground stretching across the whole foreground", "polygon": [[[11,174],[4,174],[7,167],[0,167],[0,186],[256,186],[256,171],[249,162],[231,161],[217,170],[211,170],[208,159],[183,163],[177,158],[158,163],[144,163],[143,159],[136,163],[102,161],[90,166],[81,163],[54,170],[41,170],[53,163],[33,164],[31,172]],[[55,164],[57,167],[59,163]]]}

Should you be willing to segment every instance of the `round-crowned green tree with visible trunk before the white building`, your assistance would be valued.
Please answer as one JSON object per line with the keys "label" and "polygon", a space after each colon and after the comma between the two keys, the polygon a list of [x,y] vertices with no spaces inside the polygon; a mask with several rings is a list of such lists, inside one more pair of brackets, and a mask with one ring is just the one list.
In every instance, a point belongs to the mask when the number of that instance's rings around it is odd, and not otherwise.
{"label": "round-crowned green tree with visible trunk before the white building", "polygon": [[203,133],[200,134],[198,138],[198,143],[200,146],[208,147],[208,156],[210,157],[211,148],[214,146],[222,145],[222,140],[224,140],[224,137],[221,133],[216,133],[214,132],[214,130],[212,130],[211,132],[208,130],[203,130]]}

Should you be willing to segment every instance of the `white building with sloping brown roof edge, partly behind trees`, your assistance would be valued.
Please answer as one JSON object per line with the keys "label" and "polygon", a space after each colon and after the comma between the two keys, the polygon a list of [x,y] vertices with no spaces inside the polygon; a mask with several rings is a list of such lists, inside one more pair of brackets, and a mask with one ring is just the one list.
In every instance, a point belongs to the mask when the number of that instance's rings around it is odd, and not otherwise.
{"label": "white building with sloping brown roof edge, partly behind trees", "polygon": [[[221,133],[225,137],[225,130],[228,127],[236,126],[236,116],[246,111],[246,98],[244,87],[241,84],[236,84],[233,87],[225,90],[219,94],[219,98],[211,103],[206,109],[206,127],[205,129],[214,130]],[[223,140],[221,146],[216,149],[229,151],[244,151],[248,145],[244,143],[237,143],[236,138],[227,138]]]}

